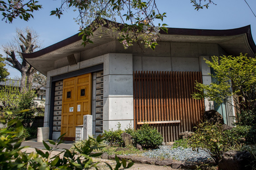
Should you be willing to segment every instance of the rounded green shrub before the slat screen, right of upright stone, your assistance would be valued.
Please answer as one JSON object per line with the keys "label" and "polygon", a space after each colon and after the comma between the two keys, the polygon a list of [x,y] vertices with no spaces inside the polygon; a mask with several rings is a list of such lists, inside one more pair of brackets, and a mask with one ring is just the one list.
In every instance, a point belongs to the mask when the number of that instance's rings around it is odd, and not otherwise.
{"label": "rounded green shrub before the slat screen, right of upright stone", "polygon": [[162,135],[149,124],[143,124],[134,133],[134,143],[140,144],[143,148],[157,148],[162,142]]}

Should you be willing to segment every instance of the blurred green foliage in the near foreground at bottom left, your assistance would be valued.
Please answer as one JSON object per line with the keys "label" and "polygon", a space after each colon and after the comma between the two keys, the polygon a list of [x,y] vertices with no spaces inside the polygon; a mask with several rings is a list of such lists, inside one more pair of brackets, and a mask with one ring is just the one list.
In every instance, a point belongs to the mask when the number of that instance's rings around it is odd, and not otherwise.
{"label": "blurred green foliage in the near foreground at bottom left", "polygon": [[[29,110],[19,112],[25,111]],[[43,141],[46,152],[35,149],[36,153],[32,152],[27,154],[21,151],[26,147],[20,147],[23,141],[23,138],[21,138],[23,134],[23,120],[18,120],[17,118],[11,119],[12,114],[11,111],[6,111],[7,118],[0,116],[0,123],[7,126],[0,130],[0,169],[98,169],[99,162],[94,162],[91,157],[100,156],[102,154],[93,153],[94,149],[99,148],[97,143],[104,141],[101,135],[95,139],[95,145],[91,146],[91,140],[89,139],[83,147],[76,148],[77,151],[81,153],[78,156],[75,153],[71,153],[69,150],[53,155],[52,152],[63,142],[62,140],[58,143],[49,140],[49,143],[53,144],[55,147],[50,147]],[[15,131],[8,130],[10,126],[14,126]],[[61,139],[62,136],[60,136],[58,140]],[[61,157],[60,155],[62,153],[64,153],[64,155]],[[117,162],[114,168],[115,170],[118,170],[121,166],[125,169],[133,165],[133,162],[126,164],[124,159],[120,162],[117,156],[115,156],[115,160]],[[112,170],[112,167],[109,164],[107,165]]]}

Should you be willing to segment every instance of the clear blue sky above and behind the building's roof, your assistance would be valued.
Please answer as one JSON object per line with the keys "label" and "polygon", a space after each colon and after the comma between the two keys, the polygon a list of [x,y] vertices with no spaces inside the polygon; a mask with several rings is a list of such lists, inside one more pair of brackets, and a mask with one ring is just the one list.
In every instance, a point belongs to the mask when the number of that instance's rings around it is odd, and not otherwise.
{"label": "clear blue sky above and behind the building's roof", "polygon": [[[251,32],[256,42],[256,17],[253,15],[244,0],[213,0],[217,5],[210,5],[208,9],[194,10],[190,0],[156,0],[161,13],[166,12],[163,23],[167,27],[175,28],[198,28],[198,29],[232,29],[251,25]],[[256,1],[246,0],[256,14]],[[14,35],[15,28],[32,27],[40,35],[43,47],[59,42],[67,37],[78,33],[79,25],[73,18],[77,12],[64,11],[64,15],[58,19],[49,16],[50,11],[61,4],[61,0],[39,0],[43,9],[33,13],[34,19],[28,22],[21,19],[14,19],[12,24],[0,21],[0,45],[7,43]],[[0,50],[0,54],[5,56]],[[8,67],[9,77],[20,73]]]}

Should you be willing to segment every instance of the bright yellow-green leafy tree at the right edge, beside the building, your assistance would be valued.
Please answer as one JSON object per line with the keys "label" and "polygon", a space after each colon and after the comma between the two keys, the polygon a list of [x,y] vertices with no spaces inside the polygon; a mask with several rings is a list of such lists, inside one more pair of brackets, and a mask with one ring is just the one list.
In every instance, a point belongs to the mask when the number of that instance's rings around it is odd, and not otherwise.
{"label": "bright yellow-green leafy tree at the right edge, beside the building", "polygon": [[[194,99],[207,98],[217,104],[228,103],[238,110],[251,110],[256,102],[256,59],[240,54],[238,57],[220,56],[205,59],[215,82],[210,85],[196,83],[199,91]],[[239,100],[240,98],[240,100]]]}

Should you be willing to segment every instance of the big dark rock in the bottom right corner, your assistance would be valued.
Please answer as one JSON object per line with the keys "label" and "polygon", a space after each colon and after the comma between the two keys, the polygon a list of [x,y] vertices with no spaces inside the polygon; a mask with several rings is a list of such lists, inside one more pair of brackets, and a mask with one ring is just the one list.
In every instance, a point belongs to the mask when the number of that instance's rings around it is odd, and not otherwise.
{"label": "big dark rock in the bottom right corner", "polygon": [[219,161],[219,169],[222,170],[249,170],[251,162],[251,154],[248,151],[227,151],[222,154]]}

